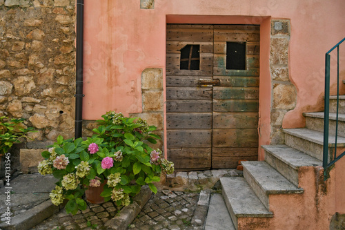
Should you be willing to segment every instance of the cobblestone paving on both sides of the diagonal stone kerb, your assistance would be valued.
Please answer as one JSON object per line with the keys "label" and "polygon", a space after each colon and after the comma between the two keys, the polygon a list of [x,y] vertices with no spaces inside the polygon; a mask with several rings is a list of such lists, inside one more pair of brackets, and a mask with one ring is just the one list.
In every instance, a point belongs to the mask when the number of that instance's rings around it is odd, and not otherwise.
{"label": "cobblestone paving on both sides of the diagonal stone kerb", "polygon": [[[191,222],[199,193],[184,193],[181,191],[158,191],[152,194],[150,200],[141,210],[137,218],[128,226],[131,230],[163,230],[163,229],[202,229],[201,224],[193,227]],[[85,211],[70,215],[63,209],[33,227],[32,230],[70,230],[70,229],[106,229],[104,223],[118,212],[113,202],[90,204]],[[195,224],[194,224],[195,225]]]}

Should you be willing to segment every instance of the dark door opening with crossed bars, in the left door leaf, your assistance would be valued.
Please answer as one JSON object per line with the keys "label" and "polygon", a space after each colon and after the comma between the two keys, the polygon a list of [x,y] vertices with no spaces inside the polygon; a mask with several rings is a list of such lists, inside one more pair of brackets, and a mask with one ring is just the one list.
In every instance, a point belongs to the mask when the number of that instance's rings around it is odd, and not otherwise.
{"label": "dark door opening with crossed bars, in the left door leaf", "polygon": [[181,48],[180,70],[200,69],[200,45],[187,45]]}

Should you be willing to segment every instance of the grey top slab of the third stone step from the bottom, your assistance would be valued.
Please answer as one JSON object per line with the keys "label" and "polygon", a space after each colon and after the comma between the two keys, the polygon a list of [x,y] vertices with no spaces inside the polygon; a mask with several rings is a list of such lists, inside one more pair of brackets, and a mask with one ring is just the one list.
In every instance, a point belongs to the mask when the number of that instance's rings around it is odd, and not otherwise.
{"label": "grey top slab of the third stone step from the bottom", "polygon": [[322,161],[311,155],[291,148],[286,144],[265,145],[262,146],[265,151],[274,155],[278,160],[284,162],[293,169],[298,169],[302,166],[322,166]]}

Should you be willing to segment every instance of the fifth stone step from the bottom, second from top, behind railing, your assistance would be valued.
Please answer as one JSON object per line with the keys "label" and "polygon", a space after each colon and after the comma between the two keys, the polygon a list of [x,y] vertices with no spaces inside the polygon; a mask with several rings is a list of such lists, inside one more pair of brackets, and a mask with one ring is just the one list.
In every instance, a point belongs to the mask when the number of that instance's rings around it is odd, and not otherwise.
{"label": "fifth stone step from the bottom, second from top, behind railing", "polygon": [[[303,113],[306,117],[306,128],[323,132],[324,131],[324,112]],[[336,113],[329,113],[329,134],[335,135],[335,125],[337,120]],[[338,135],[345,137],[345,113],[338,114]]]}

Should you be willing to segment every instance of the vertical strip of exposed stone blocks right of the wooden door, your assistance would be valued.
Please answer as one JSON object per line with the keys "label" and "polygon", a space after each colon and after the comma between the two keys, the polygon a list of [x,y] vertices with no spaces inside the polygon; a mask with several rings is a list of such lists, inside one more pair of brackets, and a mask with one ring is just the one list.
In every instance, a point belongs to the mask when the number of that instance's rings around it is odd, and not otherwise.
{"label": "vertical strip of exposed stone blocks right of the wooden door", "polygon": [[270,30],[270,74],[273,102],[270,111],[271,144],[284,144],[282,124],[284,115],[295,108],[297,90],[288,73],[288,44],[290,20],[272,20]]}

